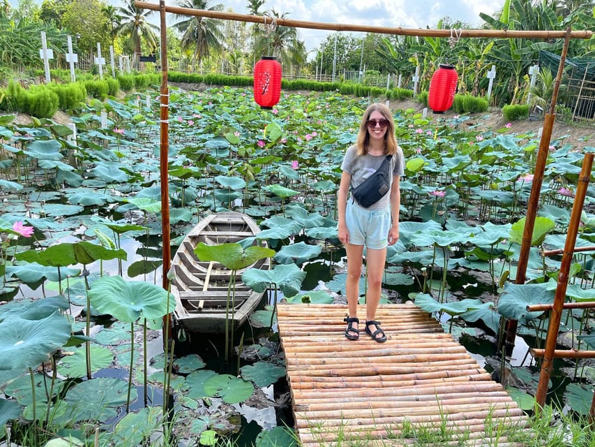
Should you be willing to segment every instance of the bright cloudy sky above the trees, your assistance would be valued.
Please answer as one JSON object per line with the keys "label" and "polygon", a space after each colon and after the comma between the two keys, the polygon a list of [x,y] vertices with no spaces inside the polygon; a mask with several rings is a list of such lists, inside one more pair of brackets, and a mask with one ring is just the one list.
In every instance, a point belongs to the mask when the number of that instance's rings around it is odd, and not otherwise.
{"label": "bright cloudy sky above the trees", "polygon": [[[144,0],[159,3],[158,0]],[[10,0],[17,6],[18,0]],[[41,3],[41,0],[36,0]],[[107,0],[121,6],[121,0]],[[248,0],[209,0],[209,6],[221,3],[224,10],[248,14]],[[177,6],[176,0],[166,0],[166,6]],[[483,23],[479,13],[495,15],[502,9],[504,0],[266,0],[260,8],[274,9],[279,15],[286,13],[289,20],[324,22],[331,24],[356,24],[372,27],[435,28],[438,20],[451,17],[472,28]],[[158,14],[153,14],[158,24]],[[306,43],[306,50],[313,52],[327,34],[335,31],[300,28],[299,38]],[[353,33],[357,36],[358,33]],[[361,36],[361,33],[359,33]],[[310,54],[312,56],[312,54]]]}

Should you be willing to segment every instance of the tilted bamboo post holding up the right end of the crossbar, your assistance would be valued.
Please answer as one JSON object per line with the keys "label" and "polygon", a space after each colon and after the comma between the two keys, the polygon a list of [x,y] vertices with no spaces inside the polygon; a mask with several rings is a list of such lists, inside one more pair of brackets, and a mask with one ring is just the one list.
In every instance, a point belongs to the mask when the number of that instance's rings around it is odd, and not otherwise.
{"label": "tilted bamboo post holding up the right end of the crossbar", "polygon": [[[535,226],[535,219],[537,217],[537,209],[539,205],[539,196],[541,195],[541,185],[543,184],[543,173],[545,172],[545,162],[548,160],[550,153],[550,140],[552,138],[552,130],[556,118],[556,101],[558,98],[558,91],[560,83],[562,82],[562,73],[564,73],[564,65],[566,64],[566,54],[568,54],[568,45],[570,43],[571,29],[566,29],[566,36],[564,37],[564,46],[562,47],[562,54],[560,55],[560,63],[558,65],[558,73],[554,82],[554,90],[552,92],[552,101],[548,113],[545,114],[543,133],[541,133],[541,140],[539,142],[539,150],[535,162],[535,172],[533,175],[533,182],[531,185],[531,195],[527,203],[527,213],[525,214],[525,228],[522,233],[522,243],[520,246],[520,254],[518,258],[517,274],[515,284],[525,284],[525,274],[527,273],[527,263],[529,263],[529,250],[531,249],[531,241],[533,239],[533,229]],[[574,247],[574,245],[573,245]],[[504,329],[504,352],[506,356],[512,356],[516,330],[518,327],[517,320],[507,320]],[[502,346],[500,346],[502,348]],[[506,369],[504,369],[506,373]],[[506,377],[503,378],[506,380]]]}

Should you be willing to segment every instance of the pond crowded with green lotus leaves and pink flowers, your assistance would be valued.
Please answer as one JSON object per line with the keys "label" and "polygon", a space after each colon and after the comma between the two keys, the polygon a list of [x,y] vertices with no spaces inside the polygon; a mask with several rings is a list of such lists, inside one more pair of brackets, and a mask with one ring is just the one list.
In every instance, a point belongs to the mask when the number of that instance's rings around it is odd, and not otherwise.
{"label": "pond crowded with green lotus leaves and pink flowers", "polygon": [[[201,217],[222,210],[253,217],[276,251],[266,277],[243,278],[269,303],[229,358],[221,340],[183,334],[175,355],[163,352],[174,302],[160,287],[158,90],[82,105],[70,117],[75,133],[0,117],[0,440],[294,444],[274,308],[281,299],[342,302],[339,167],[370,101],[283,94],[266,111],[248,89],[170,91],[172,253]],[[394,116],[406,170],[383,300],[414,301],[486,369],[509,369],[505,385],[530,411],[539,363],[527,347],[543,345],[548,316],[525,308],[553,300],[560,256],[543,251],[564,247],[583,154],[595,148],[551,142],[527,284],[517,285],[537,135],[480,132],[466,116]],[[589,186],[579,246],[595,240],[594,196]],[[592,254],[576,254],[571,273],[568,300],[594,300]],[[512,358],[497,352],[503,318],[519,321]],[[566,312],[562,323],[560,344],[595,346],[588,311]],[[557,362],[550,400],[587,414],[594,376],[588,360]]]}

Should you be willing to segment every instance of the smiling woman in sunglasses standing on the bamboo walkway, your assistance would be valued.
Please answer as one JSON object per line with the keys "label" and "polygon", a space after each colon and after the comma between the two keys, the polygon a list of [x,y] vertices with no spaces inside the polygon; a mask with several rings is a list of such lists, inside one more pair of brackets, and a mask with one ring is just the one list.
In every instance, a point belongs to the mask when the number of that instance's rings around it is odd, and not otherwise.
{"label": "smiling woman in sunglasses standing on the bamboo walkway", "polygon": [[[376,203],[363,207],[349,196],[391,156],[391,187]],[[403,174],[403,154],[395,139],[395,122],[386,105],[374,103],[363,114],[355,145],[345,152],[341,164],[341,183],[338,193],[338,236],[347,251],[347,305],[345,337],[359,338],[359,279],[366,247],[368,291],[366,293],[366,333],[377,342],[386,342],[386,335],[375,320],[380,302],[382,273],[386,261],[386,247],[399,238],[400,176]],[[390,177],[390,176],[389,176]]]}

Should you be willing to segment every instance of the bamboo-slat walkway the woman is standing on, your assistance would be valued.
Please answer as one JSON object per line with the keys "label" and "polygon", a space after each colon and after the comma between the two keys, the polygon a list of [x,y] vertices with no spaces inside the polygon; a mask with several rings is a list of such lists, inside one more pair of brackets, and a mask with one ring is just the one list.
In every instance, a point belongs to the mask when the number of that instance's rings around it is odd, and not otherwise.
{"label": "bamboo-slat walkway the woman is standing on", "polygon": [[[526,418],[506,390],[415,305],[380,305],[388,338],[344,336],[345,305],[278,305],[301,446],[512,446]],[[430,445],[430,444],[426,444]]]}

